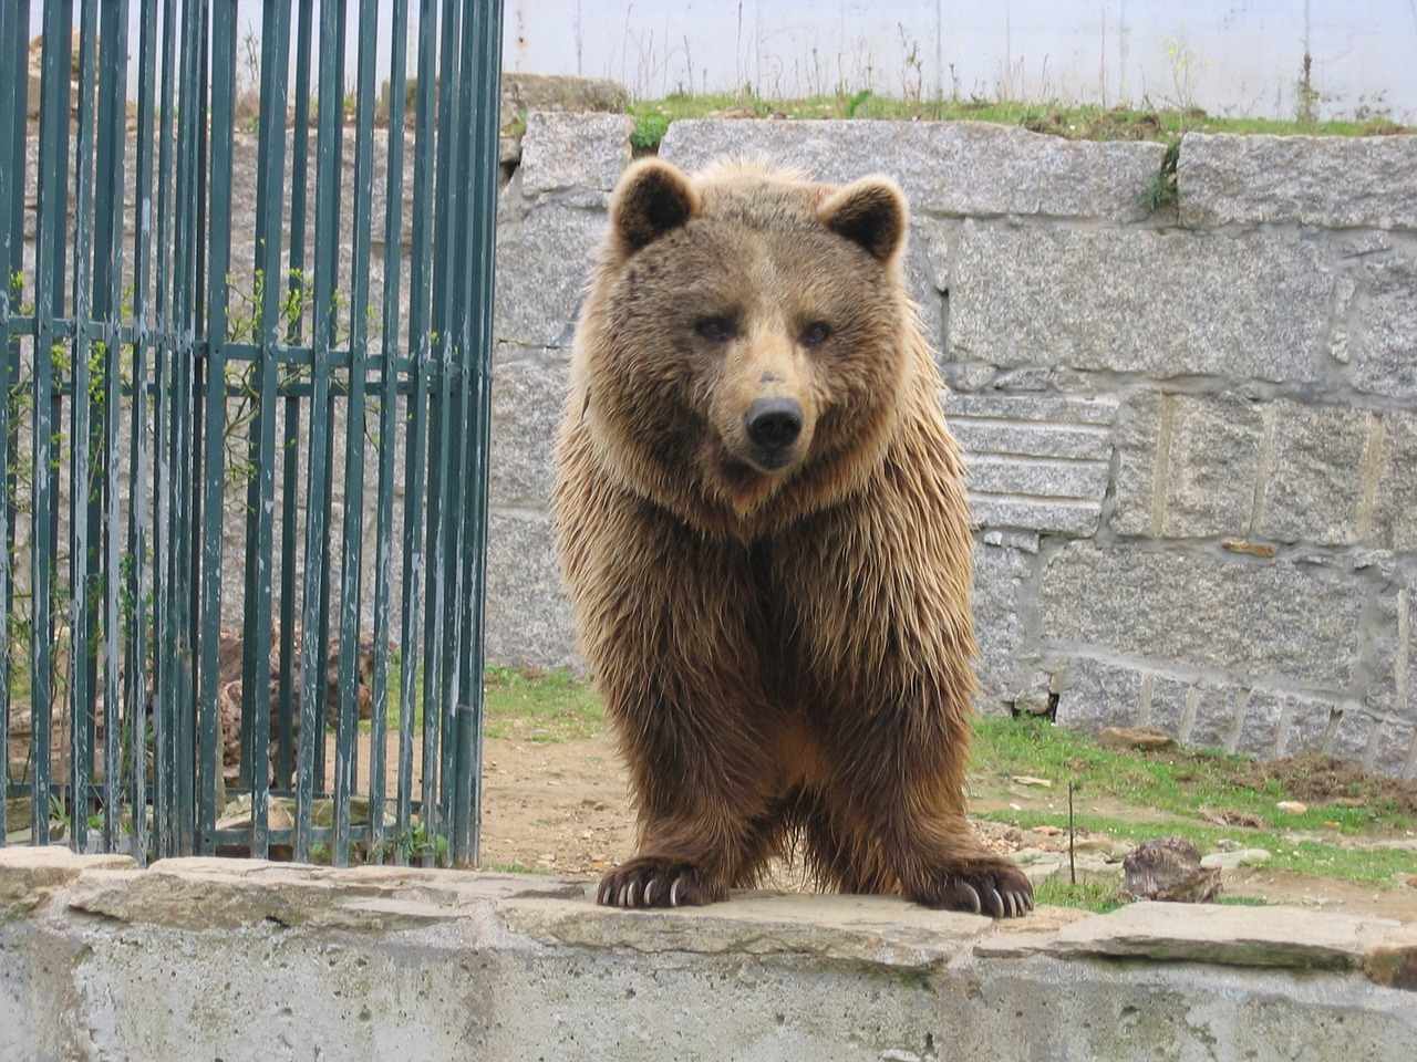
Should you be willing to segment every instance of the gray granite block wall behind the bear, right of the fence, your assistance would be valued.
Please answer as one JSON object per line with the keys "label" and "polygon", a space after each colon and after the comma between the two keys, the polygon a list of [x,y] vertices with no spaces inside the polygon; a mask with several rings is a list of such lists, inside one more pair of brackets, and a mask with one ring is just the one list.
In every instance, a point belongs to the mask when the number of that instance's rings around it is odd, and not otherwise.
{"label": "gray granite block wall behind the bear, right of the fence", "polygon": [[[531,115],[497,258],[490,660],[575,666],[547,497],[621,116]],[[1417,776],[1417,137],[680,122],[894,176],[979,523],[985,709]]]}

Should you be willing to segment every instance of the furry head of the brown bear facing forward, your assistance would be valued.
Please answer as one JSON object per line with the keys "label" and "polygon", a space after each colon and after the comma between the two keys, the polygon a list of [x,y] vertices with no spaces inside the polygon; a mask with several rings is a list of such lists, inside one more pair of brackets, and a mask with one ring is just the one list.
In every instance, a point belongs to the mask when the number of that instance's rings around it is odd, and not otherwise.
{"label": "furry head of the brown bear facing forward", "polygon": [[745,538],[859,489],[922,350],[905,229],[881,177],[628,170],[572,368],[571,415],[606,472]]}

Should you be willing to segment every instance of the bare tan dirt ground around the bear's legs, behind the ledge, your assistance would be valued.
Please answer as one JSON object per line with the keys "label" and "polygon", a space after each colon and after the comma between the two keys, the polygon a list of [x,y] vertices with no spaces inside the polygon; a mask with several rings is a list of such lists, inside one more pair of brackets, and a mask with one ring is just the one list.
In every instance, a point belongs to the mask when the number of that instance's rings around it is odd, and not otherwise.
{"label": "bare tan dirt ground around the bear's legs, behind the ledge", "polygon": [[[541,745],[489,738],[483,763],[485,867],[595,878],[631,854],[635,816],[625,773],[609,741],[591,738]],[[979,811],[1010,806],[1047,809],[1050,801],[1056,803],[1058,799],[1066,801],[1066,796],[1060,797],[1049,790],[1012,783],[986,786],[976,780],[971,807]],[[1145,807],[1088,799],[1078,803],[1078,810],[1131,821],[1153,820],[1158,835],[1165,834],[1166,820]],[[1067,850],[1067,837],[1057,830],[1024,833],[985,821],[976,821],[975,828],[999,851]],[[1244,844],[1244,833],[1243,827],[1236,828],[1240,844]],[[1389,838],[1382,844],[1413,852],[1413,879],[1417,881],[1417,837]],[[1080,847],[1084,845],[1093,850],[1110,848],[1108,860],[1119,860],[1125,854],[1125,845],[1118,848],[1107,838],[1085,838]],[[1119,882],[1119,862],[1117,874]],[[1253,896],[1271,903],[1297,903],[1322,910],[1417,922],[1417,886],[1413,885],[1376,891],[1264,868],[1227,871],[1223,882],[1224,896]],[[794,868],[782,869],[771,884],[777,888],[805,886]]]}

